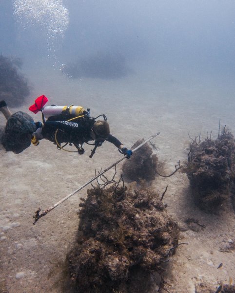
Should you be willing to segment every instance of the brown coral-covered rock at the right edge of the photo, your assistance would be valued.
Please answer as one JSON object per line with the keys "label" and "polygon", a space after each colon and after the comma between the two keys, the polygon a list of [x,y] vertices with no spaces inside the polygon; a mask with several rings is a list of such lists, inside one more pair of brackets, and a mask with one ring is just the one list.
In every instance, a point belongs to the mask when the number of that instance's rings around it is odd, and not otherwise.
{"label": "brown coral-covered rock at the right edge of the photo", "polygon": [[216,140],[193,142],[186,168],[197,205],[213,211],[231,195],[235,168],[235,143],[224,131]]}

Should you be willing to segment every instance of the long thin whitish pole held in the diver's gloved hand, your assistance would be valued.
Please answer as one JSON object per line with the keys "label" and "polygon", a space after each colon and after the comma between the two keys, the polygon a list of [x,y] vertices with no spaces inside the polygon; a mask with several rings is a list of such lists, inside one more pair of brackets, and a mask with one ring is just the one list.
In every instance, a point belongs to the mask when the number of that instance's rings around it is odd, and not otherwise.
{"label": "long thin whitish pole held in the diver's gloved hand", "polygon": [[[146,141],[142,142],[142,144],[140,144],[139,146],[137,146],[136,148],[134,148],[132,150],[132,152],[136,151],[137,149],[139,149],[141,146],[145,145],[147,142],[151,141],[153,138],[155,138],[160,132],[157,132],[156,134],[151,135]],[[57,202],[54,206],[50,207],[49,209],[46,209],[45,211],[41,212],[41,214],[39,214],[40,212],[40,208],[35,211],[35,214],[33,216],[33,218],[35,218],[34,221],[34,225],[37,223],[37,221],[45,216],[48,212],[50,212],[51,210],[55,209],[56,207],[58,207],[60,204],[62,204],[63,202],[65,202],[68,198],[70,198],[71,196],[73,196],[75,193],[77,193],[78,191],[80,191],[82,188],[86,187],[88,184],[90,184],[92,181],[96,180],[99,176],[103,175],[105,172],[107,172],[109,169],[111,169],[112,167],[116,166],[118,163],[120,163],[122,160],[124,160],[127,157],[127,155],[125,155],[124,157],[122,157],[121,159],[119,159],[117,162],[115,162],[113,165],[111,165],[110,167],[106,168],[105,170],[103,170],[102,172],[100,172],[98,175],[96,175],[95,177],[93,177],[91,180],[87,181],[84,185],[82,185],[81,187],[79,187],[78,189],[76,189],[75,191],[73,191],[72,193],[70,193],[69,195],[65,196],[64,198],[62,198],[59,202]]]}

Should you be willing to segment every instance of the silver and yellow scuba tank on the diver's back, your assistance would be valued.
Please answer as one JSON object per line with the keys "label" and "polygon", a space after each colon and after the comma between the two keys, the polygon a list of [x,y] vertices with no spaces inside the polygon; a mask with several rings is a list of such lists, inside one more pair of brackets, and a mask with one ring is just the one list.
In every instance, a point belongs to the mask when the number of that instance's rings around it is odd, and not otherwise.
{"label": "silver and yellow scuba tank on the diver's back", "polygon": [[45,116],[45,118],[48,118],[50,116],[56,116],[59,114],[65,114],[65,115],[74,115],[74,116],[80,116],[84,112],[84,108],[82,106],[45,106],[42,108],[42,113]]}

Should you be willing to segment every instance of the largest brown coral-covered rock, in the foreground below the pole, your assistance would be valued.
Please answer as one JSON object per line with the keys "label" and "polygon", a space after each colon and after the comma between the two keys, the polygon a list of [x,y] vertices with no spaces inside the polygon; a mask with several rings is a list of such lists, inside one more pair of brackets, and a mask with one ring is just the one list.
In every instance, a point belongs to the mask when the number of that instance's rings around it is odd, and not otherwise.
{"label": "largest brown coral-covered rock, in the foreground below the pole", "polygon": [[143,293],[148,284],[137,274],[147,281],[151,272],[161,273],[178,243],[176,222],[150,190],[90,189],[79,217],[77,243],[67,256],[78,293]]}

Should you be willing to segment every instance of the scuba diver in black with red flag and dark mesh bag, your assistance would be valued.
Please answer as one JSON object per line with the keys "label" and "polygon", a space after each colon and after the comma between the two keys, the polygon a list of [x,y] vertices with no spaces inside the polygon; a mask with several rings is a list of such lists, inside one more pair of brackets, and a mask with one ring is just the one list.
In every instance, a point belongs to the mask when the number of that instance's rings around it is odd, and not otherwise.
{"label": "scuba diver in black with red flag and dark mesh bag", "polygon": [[[132,155],[130,149],[110,134],[109,124],[104,114],[98,116],[102,116],[103,120],[96,121],[98,117],[90,117],[90,109],[84,110],[83,107],[74,105],[44,106],[47,101],[48,99],[42,95],[35,100],[34,105],[29,107],[29,110],[35,114],[41,111],[42,121],[36,123],[27,113],[18,111],[12,114],[5,101],[0,101],[0,111],[7,119],[5,128],[0,131],[0,142],[6,151],[19,154],[31,143],[38,146],[41,139],[47,139],[60,150],[78,152],[78,154],[85,152],[84,143],[92,145],[94,148],[90,158],[95,154],[97,147],[105,141],[114,144],[120,153],[127,155],[127,158]],[[67,145],[74,145],[77,150],[68,150],[65,147]]]}

